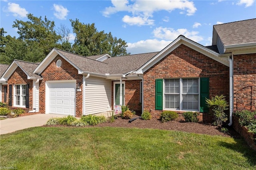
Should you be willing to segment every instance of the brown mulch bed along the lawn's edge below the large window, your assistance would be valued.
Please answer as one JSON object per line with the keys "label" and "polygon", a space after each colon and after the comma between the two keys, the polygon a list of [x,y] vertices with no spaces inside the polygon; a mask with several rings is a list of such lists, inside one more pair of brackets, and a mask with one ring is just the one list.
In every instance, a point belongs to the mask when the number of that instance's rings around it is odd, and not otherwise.
{"label": "brown mulch bed along the lawn's edge below the large window", "polygon": [[229,134],[220,132],[220,128],[206,123],[188,123],[181,119],[178,121],[169,121],[162,123],[158,119],[151,119],[148,121],[142,119],[136,119],[131,123],[128,119],[122,119],[118,117],[114,123],[102,123],[96,125],[95,127],[126,127],[126,128],[154,128],[163,130],[178,130],[184,132],[192,132],[198,134],[208,134],[208,135],[220,135],[220,136],[230,136],[234,138],[240,138],[239,134],[232,128],[228,127]]}

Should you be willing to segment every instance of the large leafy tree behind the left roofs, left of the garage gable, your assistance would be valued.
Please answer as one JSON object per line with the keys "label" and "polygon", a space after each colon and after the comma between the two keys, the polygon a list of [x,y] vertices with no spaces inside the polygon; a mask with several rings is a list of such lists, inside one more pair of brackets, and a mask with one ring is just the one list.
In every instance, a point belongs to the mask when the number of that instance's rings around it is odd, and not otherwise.
{"label": "large leafy tree behind the left roofs, left of the garage gable", "polygon": [[[29,21],[24,22],[22,20],[16,20],[12,27],[18,29],[18,39],[27,43],[29,47],[28,53],[36,52],[30,55],[30,57],[37,55],[36,59],[30,58],[28,60],[36,62],[42,61],[52,48],[61,47],[58,43],[61,36],[54,30],[54,21],[48,20],[46,16],[44,20],[42,20],[41,16],[37,18],[32,14],[28,14],[27,17]],[[38,53],[38,51],[40,52]],[[26,57],[29,57],[29,55]]]}

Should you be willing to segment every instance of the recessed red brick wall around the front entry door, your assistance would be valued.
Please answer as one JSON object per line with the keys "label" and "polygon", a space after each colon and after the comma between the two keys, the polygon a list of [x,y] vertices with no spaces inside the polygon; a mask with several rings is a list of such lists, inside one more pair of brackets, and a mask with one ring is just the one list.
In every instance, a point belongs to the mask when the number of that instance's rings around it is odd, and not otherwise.
{"label": "recessed red brick wall around the front entry door", "polygon": [[[140,105],[140,81],[141,80],[126,80],[125,82],[125,105],[128,105],[130,110],[141,113],[142,105]],[[120,81],[116,81],[120,82]],[[114,103],[114,81],[112,81],[111,103]],[[112,106],[113,109],[113,106]]]}

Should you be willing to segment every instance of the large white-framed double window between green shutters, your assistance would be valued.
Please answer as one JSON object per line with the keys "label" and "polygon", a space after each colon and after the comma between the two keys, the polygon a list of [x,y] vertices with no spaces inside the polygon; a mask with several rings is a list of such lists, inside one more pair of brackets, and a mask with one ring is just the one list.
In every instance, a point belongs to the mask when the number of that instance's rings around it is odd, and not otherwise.
{"label": "large white-framed double window between green shutters", "polygon": [[164,99],[166,109],[199,110],[198,78],[165,79]]}

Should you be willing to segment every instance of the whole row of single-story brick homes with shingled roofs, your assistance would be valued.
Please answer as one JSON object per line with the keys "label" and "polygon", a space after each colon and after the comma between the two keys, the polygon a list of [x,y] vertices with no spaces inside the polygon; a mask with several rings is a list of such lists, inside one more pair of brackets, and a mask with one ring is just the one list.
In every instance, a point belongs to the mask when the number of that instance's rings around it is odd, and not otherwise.
{"label": "whole row of single-story brick homes with shingled roofs", "polygon": [[[230,116],[234,109],[256,110],[255,28],[256,19],[215,25],[212,46],[179,36],[160,52],[120,57],[84,57],[54,48],[39,65],[15,60],[0,83],[9,89],[31,84],[29,111],[39,113],[81,117],[128,105],[154,117],[162,110],[198,111],[209,121],[205,98],[214,95],[227,97]],[[23,81],[15,82],[15,76]],[[15,88],[12,94],[17,101]]]}

